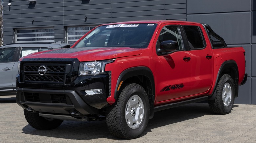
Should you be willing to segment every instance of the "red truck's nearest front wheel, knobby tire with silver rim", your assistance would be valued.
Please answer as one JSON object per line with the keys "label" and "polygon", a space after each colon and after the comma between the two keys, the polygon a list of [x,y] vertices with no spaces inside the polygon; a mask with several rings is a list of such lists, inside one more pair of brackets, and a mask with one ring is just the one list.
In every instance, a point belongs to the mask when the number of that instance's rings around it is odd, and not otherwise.
{"label": "red truck's nearest front wheel, knobby tire with silver rim", "polygon": [[139,137],[146,129],[148,119],[148,96],[138,84],[124,87],[117,102],[106,110],[108,129],[119,138]]}

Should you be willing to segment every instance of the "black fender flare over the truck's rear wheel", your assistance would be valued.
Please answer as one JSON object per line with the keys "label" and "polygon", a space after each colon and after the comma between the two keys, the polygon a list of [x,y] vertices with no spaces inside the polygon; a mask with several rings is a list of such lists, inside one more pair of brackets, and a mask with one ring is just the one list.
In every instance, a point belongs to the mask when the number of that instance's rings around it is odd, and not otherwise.
{"label": "black fender flare over the truck's rear wheel", "polygon": [[234,86],[235,86],[235,97],[238,97],[238,78],[239,78],[239,74],[238,74],[238,67],[237,67],[237,63],[234,60],[228,60],[222,63],[222,65],[220,66],[220,69],[218,71],[217,74],[217,78],[215,81],[215,85],[214,85],[214,92],[210,97],[210,100],[215,99],[216,97],[216,88],[217,88],[217,84],[218,81],[220,80],[220,78],[222,77],[222,75],[224,74],[228,74],[231,76],[231,78],[234,80]]}

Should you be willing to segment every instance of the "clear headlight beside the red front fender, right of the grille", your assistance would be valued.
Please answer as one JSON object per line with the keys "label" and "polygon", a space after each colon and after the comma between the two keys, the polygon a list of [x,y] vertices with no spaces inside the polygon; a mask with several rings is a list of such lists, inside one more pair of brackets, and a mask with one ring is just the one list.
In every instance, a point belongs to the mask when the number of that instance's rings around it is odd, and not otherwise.
{"label": "clear headlight beside the red front fender, right of the grille", "polygon": [[95,75],[105,72],[105,65],[114,60],[81,62],[79,66],[79,75]]}

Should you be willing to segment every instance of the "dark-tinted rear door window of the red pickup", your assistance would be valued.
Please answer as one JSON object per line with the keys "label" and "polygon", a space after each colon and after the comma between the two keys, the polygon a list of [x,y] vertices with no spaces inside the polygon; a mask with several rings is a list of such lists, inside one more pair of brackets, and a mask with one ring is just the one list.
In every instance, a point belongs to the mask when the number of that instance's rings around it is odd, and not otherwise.
{"label": "dark-tinted rear door window of the red pickup", "polygon": [[184,26],[187,35],[188,45],[190,49],[204,48],[201,29],[198,26]]}

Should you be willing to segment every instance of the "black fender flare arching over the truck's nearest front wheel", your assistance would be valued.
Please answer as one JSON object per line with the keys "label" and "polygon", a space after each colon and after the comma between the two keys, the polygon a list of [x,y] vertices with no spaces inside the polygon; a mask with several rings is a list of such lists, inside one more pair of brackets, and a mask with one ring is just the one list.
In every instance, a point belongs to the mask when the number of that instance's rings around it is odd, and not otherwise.
{"label": "black fender flare arching over the truck's nearest front wheel", "polygon": [[155,80],[154,80],[154,76],[152,71],[150,70],[150,68],[148,67],[144,67],[144,66],[139,66],[139,67],[132,67],[132,68],[128,68],[124,71],[122,71],[122,73],[119,75],[118,79],[117,79],[117,84],[116,84],[116,88],[115,88],[115,94],[114,94],[114,99],[117,100],[118,95],[119,95],[119,91],[118,91],[118,87],[119,84],[121,83],[121,81],[125,81],[130,77],[134,77],[134,76],[146,76],[150,83],[149,86],[151,86],[150,88],[152,89],[151,92],[149,93],[149,98],[150,99],[150,115],[149,118],[152,118],[154,115],[154,100],[155,100]]}

